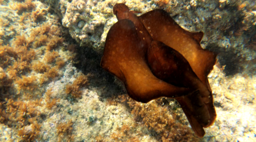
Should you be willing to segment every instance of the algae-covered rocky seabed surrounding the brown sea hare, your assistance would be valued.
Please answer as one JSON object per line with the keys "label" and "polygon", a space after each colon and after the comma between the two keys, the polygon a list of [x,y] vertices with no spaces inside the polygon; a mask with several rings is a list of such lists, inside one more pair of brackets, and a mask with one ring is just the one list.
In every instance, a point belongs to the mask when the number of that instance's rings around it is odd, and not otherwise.
{"label": "algae-covered rocky seabed surrounding the brown sea hare", "polygon": [[43,2],[0,1],[0,141],[255,141],[253,0],[126,1],[166,10],[220,53],[208,76],[217,119],[202,139],[176,101],[135,102],[97,67],[124,1]]}

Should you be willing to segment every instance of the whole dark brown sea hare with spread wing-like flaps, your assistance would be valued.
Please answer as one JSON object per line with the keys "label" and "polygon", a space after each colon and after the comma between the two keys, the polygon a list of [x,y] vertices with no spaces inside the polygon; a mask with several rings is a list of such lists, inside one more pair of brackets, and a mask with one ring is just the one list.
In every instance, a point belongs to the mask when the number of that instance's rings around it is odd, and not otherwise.
{"label": "whole dark brown sea hare with spread wing-like flaps", "polygon": [[216,111],[208,74],[216,54],[201,48],[203,32],[188,32],[164,10],[141,16],[123,3],[113,7],[118,22],[106,37],[101,66],[118,77],[135,101],[174,98],[192,130],[203,137]]}

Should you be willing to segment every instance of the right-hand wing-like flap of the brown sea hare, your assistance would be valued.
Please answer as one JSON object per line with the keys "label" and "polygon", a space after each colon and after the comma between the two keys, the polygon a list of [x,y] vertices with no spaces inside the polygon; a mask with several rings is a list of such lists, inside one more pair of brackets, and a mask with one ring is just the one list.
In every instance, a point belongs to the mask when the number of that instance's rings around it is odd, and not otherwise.
{"label": "right-hand wing-like flap of the brown sea hare", "polygon": [[210,114],[209,127],[216,119],[213,106],[212,90],[208,82],[208,74],[216,63],[216,53],[201,48],[203,32],[189,32],[181,28],[164,10],[152,10],[139,16],[154,40],[158,40],[181,53],[189,65],[210,91],[209,102],[205,103]]}

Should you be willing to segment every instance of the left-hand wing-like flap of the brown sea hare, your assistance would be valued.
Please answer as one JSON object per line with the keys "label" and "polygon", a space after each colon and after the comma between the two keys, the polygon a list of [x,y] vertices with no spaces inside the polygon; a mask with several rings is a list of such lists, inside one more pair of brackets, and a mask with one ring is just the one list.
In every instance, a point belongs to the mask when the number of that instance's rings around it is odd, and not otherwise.
{"label": "left-hand wing-like flap of the brown sea hare", "polygon": [[102,68],[125,84],[131,98],[147,103],[160,97],[177,98],[196,91],[155,77],[146,61],[144,48],[147,44],[138,36],[131,20],[119,20],[108,32],[101,59]]}

